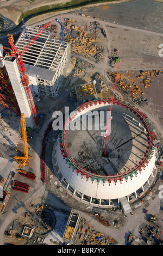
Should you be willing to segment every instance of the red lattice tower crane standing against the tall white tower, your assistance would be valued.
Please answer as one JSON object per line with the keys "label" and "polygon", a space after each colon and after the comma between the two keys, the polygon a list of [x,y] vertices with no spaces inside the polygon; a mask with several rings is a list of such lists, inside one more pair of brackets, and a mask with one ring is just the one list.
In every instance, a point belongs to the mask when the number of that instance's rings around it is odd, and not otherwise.
{"label": "red lattice tower crane standing against the tall white tower", "polygon": [[34,44],[34,42],[39,38],[39,36],[43,33],[43,31],[45,31],[45,29],[51,23],[52,23],[52,21],[49,21],[48,23],[44,24],[39,29],[39,31],[37,31],[37,33],[32,37],[32,39],[30,39],[30,41],[24,47],[24,49],[21,51],[21,53],[17,50],[16,46],[14,45],[13,36],[11,34],[8,34],[8,41],[9,41],[9,44],[10,44],[11,49],[12,49],[12,52],[9,54],[9,57],[15,57],[16,60],[17,60],[17,64],[18,64],[18,67],[19,67],[19,70],[20,70],[20,73],[21,73],[22,84],[23,84],[23,86],[26,90],[29,105],[30,105],[30,109],[32,111],[36,126],[39,126],[39,119],[37,117],[37,113],[36,113],[36,109],[35,109],[35,105],[34,105],[34,101],[33,101],[33,96],[32,96],[32,93],[31,93],[31,90],[30,90],[30,87],[29,87],[29,80],[28,80],[28,76],[26,74],[26,70],[24,68],[22,56]]}

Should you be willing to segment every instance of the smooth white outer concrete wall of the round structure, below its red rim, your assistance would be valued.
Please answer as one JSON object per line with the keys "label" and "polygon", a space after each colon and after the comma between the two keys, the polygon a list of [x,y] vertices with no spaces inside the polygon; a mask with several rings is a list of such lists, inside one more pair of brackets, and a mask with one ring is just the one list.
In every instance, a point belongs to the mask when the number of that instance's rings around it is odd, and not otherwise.
{"label": "smooth white outer concrete wall of the round structure, below its red rim", "polygon": [[61,155],[59,139],[55,149],[56,158],[54,161],[56,165],[58,165],[61,175],[66,179],[68,184],[80,193],[97,199],[118,199],[139,190],[139,188],[141,188],[149,179],[155,164],[154,151],[151,162],[149,162],[148,166],[146,166],[141,173],[138,173],[137,175],[133,174],[133,178],[131,179],[129,177],[127,181],[124,178],[122,182],[118,180],[115,186],[114,181],[111,181],[110,185],[108,181],[105,181],[105,184],[103,184],[102,180],[97,182],[96,179],[92,182],[91,178],[87,180],[85,175],[82,176],[80,173],[77,175],[76,170],[73,171],[72,166],[68,168],[69,166],[67,165],[66,160],[64,160]]}

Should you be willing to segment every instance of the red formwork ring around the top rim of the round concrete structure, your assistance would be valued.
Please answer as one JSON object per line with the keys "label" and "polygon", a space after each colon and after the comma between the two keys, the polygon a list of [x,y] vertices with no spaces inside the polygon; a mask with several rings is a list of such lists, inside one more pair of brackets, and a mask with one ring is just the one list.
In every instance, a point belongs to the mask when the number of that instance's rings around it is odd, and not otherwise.
{"label": "red formwork ring around the top rim of the round concrete structure", "polygon": [[[92,106],[93,104],[94,105],[97,105],[99,103],[99,105],[101,105],[101,103],[111,103],[111,99],[104,99],[104,100],[93,100],[93,101],[89,101],[89,102],[85,102],[83,103],[82,105],[80,105],[74,112],[73,112],[73,116],[76,116],[77,113],[83,111],[85,109],[85,107],[90,107]],[[77,172],[77,175],[79,174],[79,172],[82,174],[83,176],[83,173],[84,175],[91,175],[91,176],[95,176],[97,178],[104,178],[106,180],[109,179],[110,180],[115,180],[115,179],[121,179],[121,178],[124,178],[125,175],[129,175],[130,173],[134,172],[135,170],[137,169],[141,169],[141,168],[144,168],[145,164],[147,163],[148,161],[148,155],[149,155],[149,151],[150,151],[150,148],[152,147],[153,145],[153,132],[151,131],[148,123],[147,123],[147,120],[146,120],[146,115],[143,114],[142,112],[139,111],[138,108],[135,108],[129,104],[127,104],[126,102],[121,102],[121,100],[116,100],[114,99],[114,105],[117,104],[117,106],[122,106],[122,107],[125,107],[126,109],[129,109],[131,112],[133,111],[133,113],[135,115],[137,115],[138,118],[140,118],[140,123],[145,127],[146,131],[148,132],[148,150],[146,151],[146,154],[145,156],[143,157],[143,159],[139,162],[139,164],[136,164],[136,166],[134,168],[132,168],[131,170],[129,170],[127,173],[123,173],[123,174],[118,174],[118,175],[97,175],[97,174],[93,174],[89,171],[87,171],[86,169],[80,167],[78,165],[78,163],[73,159],[73,157],[70,155],[70,152],[68,151],[67,149],[67,139],[66,139],[66,133],[67,131],[65,130],[67,128],[67,126],[70,125],[70,122],[72,120],[72,117],[70,117],[66,123],[65,123],[65,126],[64,126],[64,131],[62,132],[62,148],[64,150],[64,153],[67,157],[67,159],[71,162],[71,164],[73,164],[74,167],[77,168],[78,172]],[[65,159],[65,157],[64,157]],[[122,179],[121,179],[122,181]]]}

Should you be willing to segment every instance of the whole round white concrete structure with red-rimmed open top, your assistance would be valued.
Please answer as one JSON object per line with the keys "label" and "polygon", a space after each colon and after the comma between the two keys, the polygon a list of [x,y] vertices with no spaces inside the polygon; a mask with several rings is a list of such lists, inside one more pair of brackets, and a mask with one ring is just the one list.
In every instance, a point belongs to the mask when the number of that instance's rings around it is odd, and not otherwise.
{"label": "whole round white concrete structure with red-rimmed open top", "polygon": [[[149,185],[155,166],[151,124],[139,109],[120,100],[113,101],[108,156],[103,157],[110,106],[107,99],[78,107],[53,149],[54,172],[67,190],[82,202],[105,207],[137,197]],[[84,116],[91,118],[85,123]]]}

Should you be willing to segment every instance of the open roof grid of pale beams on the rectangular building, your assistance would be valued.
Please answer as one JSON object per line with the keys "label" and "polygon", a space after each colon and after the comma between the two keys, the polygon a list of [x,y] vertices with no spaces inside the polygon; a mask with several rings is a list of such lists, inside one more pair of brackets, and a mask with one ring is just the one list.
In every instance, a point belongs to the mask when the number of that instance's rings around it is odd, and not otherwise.
{"label": "open roof grid of pale beams on the rectangular building", "polygon": [[[38,27],[26,27],[26,29],[29,38],[39,31]],[[30,50],[23,53],[24,64],[53,71],[57,70],[68,43],[65,42],[63,45],[61,41],[52,39],[50,36],[51,33],[49,31],[44,31],[39,40],[30,46]],[[24,45],[27,43],[26,33],[22,33],[16,42],[18,51],[23,51]]]}

